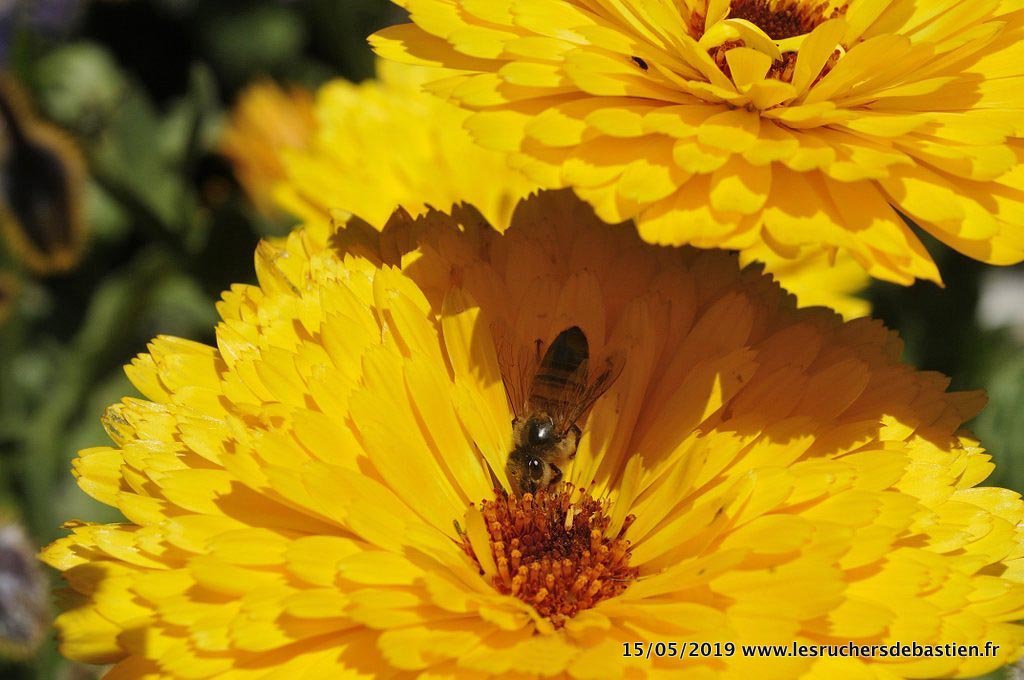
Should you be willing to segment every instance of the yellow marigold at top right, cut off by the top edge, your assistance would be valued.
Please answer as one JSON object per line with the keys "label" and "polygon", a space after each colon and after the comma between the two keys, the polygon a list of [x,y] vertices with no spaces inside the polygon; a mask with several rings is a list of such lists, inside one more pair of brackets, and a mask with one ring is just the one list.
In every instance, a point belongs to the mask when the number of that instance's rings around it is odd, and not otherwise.
{"label": "yellow marigold at top right, cut off by the top edge", "polygon": [[547,187],[650,243],[848,251],[939,273],[900,213],[971,257],[1024,259],[1017,0],[395,0],[383,56]]}

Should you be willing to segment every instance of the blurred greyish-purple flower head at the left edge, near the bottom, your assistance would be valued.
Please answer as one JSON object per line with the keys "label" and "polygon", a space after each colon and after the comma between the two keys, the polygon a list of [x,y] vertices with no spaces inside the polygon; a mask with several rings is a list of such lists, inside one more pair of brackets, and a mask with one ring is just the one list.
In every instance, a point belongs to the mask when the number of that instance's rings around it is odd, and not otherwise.
{"label": "blurred greyish-purple flower head at the left edge, near the bottom", "polygon": [[17,524],[0,526],[0,657],[31,655],[49,626],[46,580]]}

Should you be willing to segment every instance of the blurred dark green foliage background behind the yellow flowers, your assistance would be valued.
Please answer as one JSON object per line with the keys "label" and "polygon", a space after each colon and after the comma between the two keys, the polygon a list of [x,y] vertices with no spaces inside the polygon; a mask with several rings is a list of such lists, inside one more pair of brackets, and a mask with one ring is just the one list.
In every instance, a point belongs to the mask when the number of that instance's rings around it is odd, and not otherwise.
{"label": "blurred dark green foliage background behind the yellow flowers", "polygon": [[[121,367],[157,334],[212,342],[220,292],[253,281],[258,239],[289,227],[252,208],[217,155],[226,111],[260,76],[371,76],[366,36],[401,18],[387,0],[0,0],[3,70],[74,136],[90,175],[75,268],[34,273],[0,245],[0,277],[18,289],[0,299],[0,519],[37,546],[65,519],[117,519],[77,490],[70,462],[106,442],[100,414],[133,393]],[[1024,269],[929,247],[945,290],[865,294],[906,360],[988,391],[971,427],[997,461],[990,482],[1022,491]],[[2,678],[95,673],[61,661],[51,636],[29,661],[0,661]]]}

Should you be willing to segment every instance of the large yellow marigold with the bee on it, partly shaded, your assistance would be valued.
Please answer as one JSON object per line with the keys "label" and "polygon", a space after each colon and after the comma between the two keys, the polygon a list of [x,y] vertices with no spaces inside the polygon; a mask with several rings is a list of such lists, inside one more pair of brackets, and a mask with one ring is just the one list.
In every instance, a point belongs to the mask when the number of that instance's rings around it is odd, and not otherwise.
{"label": "large yellow marigold with the bee on it, partly shaded", "polygon": [[[1024,504],[978,486],[992,465],[958,430],[983,399],[900,364],[879,323],[798,310],[735,256],[646,245],[564,192],[504,233],[399,211],[256,266],[216,347],[156,339],[115,445],[75,461],[126,519],[43,553],[68,656],[114,678],[792,678],[1021,654]],[[622,372],[572,486],[507,497],[509,357],[572,327]],[[680,663],[634,641],[999,647]]]}

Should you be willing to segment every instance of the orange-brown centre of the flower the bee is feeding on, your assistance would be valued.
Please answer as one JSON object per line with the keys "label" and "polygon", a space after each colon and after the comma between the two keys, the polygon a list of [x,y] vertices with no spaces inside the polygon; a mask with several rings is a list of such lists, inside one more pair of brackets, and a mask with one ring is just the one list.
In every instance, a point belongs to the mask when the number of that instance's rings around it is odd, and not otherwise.
{"label": "orange-brown centre of the flower the bee is feeding on", "polygon": [[[499,493],[480,508],[498,565],[495,588],[530,604],[556,628],[622,594],[639,573],[623,538],[633,516],[609,539],[606,508],[588,495],[572,503],[571,494],[568,484],[521,497]],[[468,539],[463,549],[473,556]]]}

